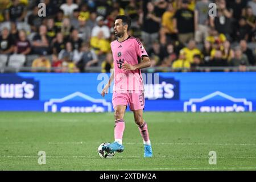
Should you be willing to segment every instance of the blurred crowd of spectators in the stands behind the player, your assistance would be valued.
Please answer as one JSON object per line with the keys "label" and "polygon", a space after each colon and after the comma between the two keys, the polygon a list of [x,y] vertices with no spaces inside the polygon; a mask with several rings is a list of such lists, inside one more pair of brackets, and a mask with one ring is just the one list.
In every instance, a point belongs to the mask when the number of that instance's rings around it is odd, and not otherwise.
{"label": "blurred crowd of spectators in the stands behind the player", "polygon": [[[39,16],[41,2],[46,16]],[[208,14],[212,2],[216,16]],[[148,72],[255,65],[256,0],[2,0],[0,72],[110,72],[117,15],[130,16],[129,34],[141,39],[152,61]]]}

